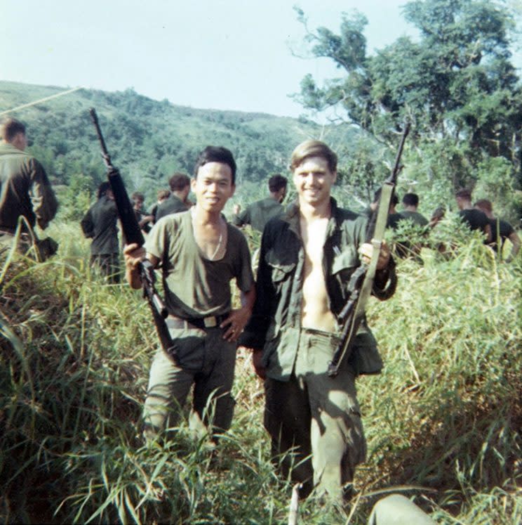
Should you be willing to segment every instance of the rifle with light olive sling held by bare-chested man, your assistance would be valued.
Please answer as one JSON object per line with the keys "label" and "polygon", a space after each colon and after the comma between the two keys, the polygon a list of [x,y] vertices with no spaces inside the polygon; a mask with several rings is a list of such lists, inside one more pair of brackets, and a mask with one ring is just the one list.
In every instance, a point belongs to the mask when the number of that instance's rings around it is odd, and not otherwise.
{"label": "rifle with light olive sling held by bare-chested man", "polygon": [[[342,324],[341,342],[333,354],[332,361],[328,363],[328,375],[330,377],[335,377],[339,373],[341,363],[352,353],[354,339],[365,316],[366,303],[372,292],[375,271],[377,271],[377,261],[379,259],[382,240],[384,239],[389,205],[391,197],[394,194],[397,177],[402,169],[401,155],[409,132],[410,124],[406,124],[399,145],[399,151],[395,159],[394,169],[382,185],[379,207],[377,208],[377,212],[373,213],[368,223],[366,239],[367,242],[370,242],[373,246],[370,264],[361,263],[361,266],[354,271],[348,283],[348,290],[350,292],[349,300],[347,304],[344,305],[338,317],[339,323]],[[391,293],[393,293],[393,291]]]}

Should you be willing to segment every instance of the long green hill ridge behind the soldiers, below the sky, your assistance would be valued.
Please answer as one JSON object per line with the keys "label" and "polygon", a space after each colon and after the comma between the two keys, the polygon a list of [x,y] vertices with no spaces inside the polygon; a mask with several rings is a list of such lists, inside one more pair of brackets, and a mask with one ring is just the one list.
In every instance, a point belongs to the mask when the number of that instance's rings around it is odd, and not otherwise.
{"label": "long green hill ridge behind the soldiers, below the sky", "polygon": [[[67,89],[0,81],[0,112]],[[93,180],[102,177],[98,141],[88,116],[91,107],[98,112],[109,153],[129,188],[150,195],[164,187],[174,171],[192,174],[197,154],[209,144],[232,150],[239,182],[255,182],[286,171],[293,148],[307,138],[323,138],[335,148],[353,143],[357,134],[348,126],[321,127],[304,118],[154,101],[133,89],[79,89],[8,114],[27,125],[29,150],[54,183],[67,184],[79,173]]]}

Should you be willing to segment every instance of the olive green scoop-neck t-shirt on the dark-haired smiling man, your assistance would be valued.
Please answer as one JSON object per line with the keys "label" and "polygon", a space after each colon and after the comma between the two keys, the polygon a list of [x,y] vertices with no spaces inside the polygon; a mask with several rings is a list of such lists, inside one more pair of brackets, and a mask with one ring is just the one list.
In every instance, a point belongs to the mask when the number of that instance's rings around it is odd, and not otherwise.
{"label": "olive green scoop-neck t-shirt on the dark-haired smiling man", "polygon": [[160,261],[166,306],[181,318],[227,313],[232,308],[230,281],[248,292],[254,284],[250,252],[243,233],[227,223],[227,249],[217,261],[203,257],[196,244],[190,212],[160,219],[147,236],[147,253]]}

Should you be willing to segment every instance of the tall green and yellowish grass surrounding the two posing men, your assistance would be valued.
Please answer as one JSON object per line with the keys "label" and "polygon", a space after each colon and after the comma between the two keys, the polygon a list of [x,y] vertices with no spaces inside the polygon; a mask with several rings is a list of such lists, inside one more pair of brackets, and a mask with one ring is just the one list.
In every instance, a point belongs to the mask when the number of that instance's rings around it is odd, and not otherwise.
{"label": "tall green and yellowish grass surrounding the two posing men", "polygon": [[[91,271],[79,228],[51,235],[54,259],[2,263],[0,520],[286,523],[292,487],[272,468],[250,356],[239,355],[234,422],[215,451],[185,420],[145,444],[147,306]],[[441,235],[446,256],[399,261],[394,298],[370,304],[385,368],[358,380],[369,454],[352,505],[311,498],[302,523],[363,524],[388,490],[439,523],[522,521],[521,258],[500,264],[478,238]]]}

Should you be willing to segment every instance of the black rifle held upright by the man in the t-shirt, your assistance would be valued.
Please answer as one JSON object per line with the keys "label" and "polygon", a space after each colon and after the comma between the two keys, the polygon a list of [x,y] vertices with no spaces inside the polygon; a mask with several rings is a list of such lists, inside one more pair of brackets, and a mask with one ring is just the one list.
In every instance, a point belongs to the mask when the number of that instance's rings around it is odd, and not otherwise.
{"label": "black rifle held upright by the man in the t-shirt", "polygon": [[[96,128],[96,134],[98,135],[98,140],[100,141],[102,159],[103,162],[105,162],[105,166],[107,167],[107,179],[109,179],[109,184],[114,195],[114,203],[116,204],[116,209],[118,210],[121,229],[123,230],[123,237],[125,238],[126,244],[135,243],[141,247],[145,244],[145,238],[143,238],[140,225],[136,220],[134,209],[131,205],[131,201],[128,198],[125,185],[123,184],[123,179],[121,179],[118,169],[112,165],[95,109],[91,108],[89,112],[91,113],[91,119],[93,119],[93,124]],[[165,304],[163,303],[163,299],[161,299],[159,293],[156,291],[156,276],[154,274],[154,267],[149,260],[145,259],[141,261],[140,264],[138,264],[138,271],[140,273],[143,286],[143,297],[147,299],[147,302],[149,303],[150,309],[152,311],[154,325],[156,326],[156,332],[158,333],[161,346],[163,346],[163,349],[168,354],[170,354],[170,356],[175,358],[175,345],[172,338],[170,337],[167,323],[165,321],[166,317],[168,316],[168,311]]]}

